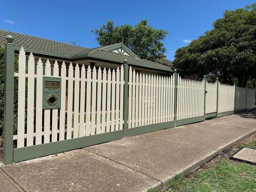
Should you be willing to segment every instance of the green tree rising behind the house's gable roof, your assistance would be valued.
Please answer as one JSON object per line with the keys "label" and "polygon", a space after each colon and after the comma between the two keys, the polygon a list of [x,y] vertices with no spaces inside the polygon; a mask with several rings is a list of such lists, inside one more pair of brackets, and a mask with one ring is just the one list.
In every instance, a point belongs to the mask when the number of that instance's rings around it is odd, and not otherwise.
{"label": "green tree rising behind the house's gable roof", "polygon": [[123,43],[130,50],[149,61],[161,62],[160,57],[166,51],[162,41],[168,32],[154,29],[148,25],[147,20],[142,20],[135,27],[128,24],[115,27],[113,21],[107,21],[107,24],[92,32],[101,46],[120,43],[123,38]]}

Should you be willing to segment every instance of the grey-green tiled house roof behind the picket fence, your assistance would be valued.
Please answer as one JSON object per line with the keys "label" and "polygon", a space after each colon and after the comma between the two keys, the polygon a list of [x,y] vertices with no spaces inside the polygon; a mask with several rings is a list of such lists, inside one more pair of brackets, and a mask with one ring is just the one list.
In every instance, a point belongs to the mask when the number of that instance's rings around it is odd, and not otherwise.
{"label": "grey-green tiled house roof behind the picket fence", "polygon": [[6,35],[11,35],[14,37],[14,44],[16,47],[20,48],[23,46],[25,50],[33,51],[35,54],[37,53],[46,56],[51,55],[68,59],[89,56],[120,63],[123,63],[123,59],[127,59],[128,64],[136,65],[139,67],[170,71],[170,68],[166,65],[147,61],[146,59],[134,58],[133,56],[117,54],[112,51],[101,50],[104,47],[89,49],[5,30],[0,30],[0,45],[4,45],[6,43]]}

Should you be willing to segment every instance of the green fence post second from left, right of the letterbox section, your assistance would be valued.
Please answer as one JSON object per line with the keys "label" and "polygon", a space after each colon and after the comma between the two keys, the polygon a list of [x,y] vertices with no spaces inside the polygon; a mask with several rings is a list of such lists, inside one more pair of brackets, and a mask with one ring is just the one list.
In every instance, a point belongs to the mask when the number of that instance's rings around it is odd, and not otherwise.
{"label": "green fence post second from left, right of the letterbox section", "polygon": [[123,85],[123,130],[124,130],[124,137],[127,136],[127,129],[128,129],[128,111],[127,111],[127,101],[128,101],[128,64],[127,59],[123,60],[123,73],[124,73],[124,85]]}

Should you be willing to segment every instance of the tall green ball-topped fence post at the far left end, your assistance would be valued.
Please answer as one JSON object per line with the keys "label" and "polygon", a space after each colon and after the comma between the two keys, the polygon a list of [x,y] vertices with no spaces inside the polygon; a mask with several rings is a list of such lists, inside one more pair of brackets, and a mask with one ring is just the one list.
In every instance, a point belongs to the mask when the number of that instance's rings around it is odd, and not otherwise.
{"label": "tall green ball-topped fence post at the far left end", "polygon": [[14,37],[6,36],[4,63],[4,164],[13,162],[14,150]]}

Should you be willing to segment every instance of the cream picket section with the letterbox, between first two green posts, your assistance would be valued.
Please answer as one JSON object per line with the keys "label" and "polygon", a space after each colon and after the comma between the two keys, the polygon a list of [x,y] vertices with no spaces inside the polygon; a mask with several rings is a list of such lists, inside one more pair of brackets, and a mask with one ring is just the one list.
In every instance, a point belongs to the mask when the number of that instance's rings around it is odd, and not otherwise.
{"label": "cream picket section with the letterbox, between first two green posts", "polygon": [[[67,70],[55,61],[51,74],[49,60],[39,58],[35,74],[34,60],[31,53],[27,69],[25,50],[19,51],[17,148],[123,129],[123,66],[107,71],[70,63]],[[42,108],[44,76],[61,77],[60,110]]]}

